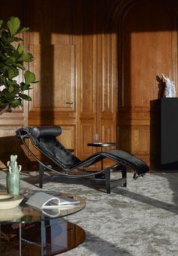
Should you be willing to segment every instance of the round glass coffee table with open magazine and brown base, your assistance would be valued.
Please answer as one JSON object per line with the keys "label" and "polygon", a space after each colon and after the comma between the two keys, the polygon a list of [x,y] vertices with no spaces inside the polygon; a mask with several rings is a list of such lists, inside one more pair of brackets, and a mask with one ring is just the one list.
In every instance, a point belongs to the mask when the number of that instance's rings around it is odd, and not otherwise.
{"label": "round glass coffee table with open magazine and brown base", "polygon": [[1,256],[50,256],[69,251],[84,242],[84,229],[65,217],[81,211],[85,201],[70,194],[60,193],[79,201],[72,208],[45,209],[29,207],[26,198],[16,208],[0,210]]}

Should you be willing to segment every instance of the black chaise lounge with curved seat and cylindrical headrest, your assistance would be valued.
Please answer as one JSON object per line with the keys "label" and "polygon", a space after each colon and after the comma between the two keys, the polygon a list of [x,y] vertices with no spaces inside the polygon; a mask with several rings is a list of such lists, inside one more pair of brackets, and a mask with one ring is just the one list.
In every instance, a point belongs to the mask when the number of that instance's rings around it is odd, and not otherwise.
{"label": "black chaise lounge with curved seat and cylindrical headrest", "polygon": [[[23,142],[29,153],[39,163],[39,186],[41,188],[44,183],[45,169],[57,173],[57,175],[51,176],[52,180],[59,180],[65,183],[80,183],[87,186],[105,186],[107,193],[110,193],[110,189],[115,186],[127,186],[127,168],[133,170],[134,180],[149,171],[149,167],[144,161],[121,150],[101,151],[84,160],[80,160],[56,138],[61,133],[60,126],[23,127],[16,132],[17,139]],[[26,142],[27,138],[54,165],[42,163],[29,148]],[[96,170],[87,171],[87,167],[103,161],[104,158],[112,160],[112,164],[97,172]],[[111,179],[111,173],[116,170],[121,171],[121,178],[113,180]]]}

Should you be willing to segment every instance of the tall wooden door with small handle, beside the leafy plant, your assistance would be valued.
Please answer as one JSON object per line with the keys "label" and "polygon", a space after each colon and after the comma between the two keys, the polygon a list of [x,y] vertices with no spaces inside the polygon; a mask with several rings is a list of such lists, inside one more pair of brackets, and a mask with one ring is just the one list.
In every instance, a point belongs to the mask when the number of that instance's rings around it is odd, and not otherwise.
{"label": "tall wooden door with small handle, beside the leafy plant", "polygon": [[72,1],[31,2],[30,69],[39,83],[32,90],[29,126],[61,126],[61,142],[76,150],[78,64],[77,21]]}

